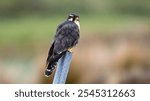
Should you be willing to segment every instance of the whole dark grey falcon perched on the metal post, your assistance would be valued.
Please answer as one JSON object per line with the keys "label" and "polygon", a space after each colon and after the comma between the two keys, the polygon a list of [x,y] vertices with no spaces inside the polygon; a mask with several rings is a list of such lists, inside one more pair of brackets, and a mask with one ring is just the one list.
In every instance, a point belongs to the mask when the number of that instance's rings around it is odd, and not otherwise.
{"label": "whole dark grey falcon perched on the metal post", "polygon": [[46,61],[46,77],[52,74],[58,60],[78,43],[79,30],[79,16],[76,14],[70,14],[67,20],[58,26]]}

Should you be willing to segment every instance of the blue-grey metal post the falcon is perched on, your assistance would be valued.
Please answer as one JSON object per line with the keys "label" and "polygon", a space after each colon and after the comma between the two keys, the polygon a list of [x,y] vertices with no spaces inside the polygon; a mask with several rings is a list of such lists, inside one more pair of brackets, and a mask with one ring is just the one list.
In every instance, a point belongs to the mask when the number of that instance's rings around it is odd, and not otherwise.
{"label": "blue-grey metal post the falcon is perched on", "polygon": [[61,59],[59,59],[53,84],[65,84],[71,60],[72,53],[69,51],[67,51],[66,54]]}

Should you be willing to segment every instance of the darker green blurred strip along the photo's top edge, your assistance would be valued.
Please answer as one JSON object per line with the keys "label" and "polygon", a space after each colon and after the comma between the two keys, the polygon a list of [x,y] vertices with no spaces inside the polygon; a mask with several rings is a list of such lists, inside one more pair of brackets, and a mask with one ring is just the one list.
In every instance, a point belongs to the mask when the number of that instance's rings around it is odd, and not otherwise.
{"label": "darker green blurred strip along the photo's top edge", "polygon": [[129,15],[150,15],[149,0],[1,0],[1,16],[18,16],[26,14],[63,14],[78,13],[120,13]]}

